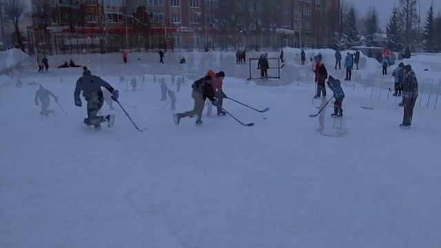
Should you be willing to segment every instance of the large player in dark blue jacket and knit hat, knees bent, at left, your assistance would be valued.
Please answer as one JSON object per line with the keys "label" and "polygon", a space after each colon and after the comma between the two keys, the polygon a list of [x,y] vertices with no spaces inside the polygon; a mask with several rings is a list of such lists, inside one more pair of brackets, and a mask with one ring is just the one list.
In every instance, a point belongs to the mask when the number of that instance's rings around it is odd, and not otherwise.
{"label": "large player in dark blue jacket and knit hat, knees bent, at left", "polygon": [[88,102],[88,118],[84,119],[85,125],[93,125],[96,130],[101,130],[101,123],[107,122],[108,127],[113,127],[115,116],[109,114],[107,116],[98,116],[98,112],[103,106],[104,98],[101,87],[105,87],[112,93],[112,99],[118,100],[119,92],[114,90],[109,83],[101,79],[99,76],[93,76],[88,68],[83,67],[83,76],[76,81],[74,92],[75,105],[81,107],[80,93],[83,92],[85,101]]}

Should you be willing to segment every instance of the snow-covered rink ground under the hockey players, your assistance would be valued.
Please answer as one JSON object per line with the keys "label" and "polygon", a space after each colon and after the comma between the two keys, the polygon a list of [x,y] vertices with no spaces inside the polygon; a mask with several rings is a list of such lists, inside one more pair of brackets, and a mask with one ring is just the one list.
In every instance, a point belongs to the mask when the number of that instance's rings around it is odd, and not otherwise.
{"label": "snow-covered rink ground under the hockey players", "polygon": [[[118,83],[119,74],[130,79],[135,70],[124,66],[94,63],[92,72],[99,68],[121,90],[120,101],[136,106],[126,110],[147,127],[143,133],[119,109],[112,130],[83,125],[85,107],[73,102],[73,76],[81,70],[21,74],[23,85],[42,83],[59,96],[70,118],[53,102],[54,116],[40,116],[35,85],[0,90],[0,247],[440,244],[440,105],[433,110],[423,101],[411,130],[402,130],[389,85],[370,98],[371,88],[344,83],[349,133],[335,138],[316,132],[318,118],[308,116],[320,104],[311,101],[313,83],[262,87],[228,77],[228,96],[270,108],[259,114],[225,100],[254,127],[228,116],[204,116],[201,127],[183,119],[176,127],[167,107],[158,111],[165,103],[151,74],[142,92]],[[169,77],[167,83],[174,89]],[[176,93],[178,112],[192,108],[189,85]],[[333,133],[340,121],[331,111],[325,130]]]}

